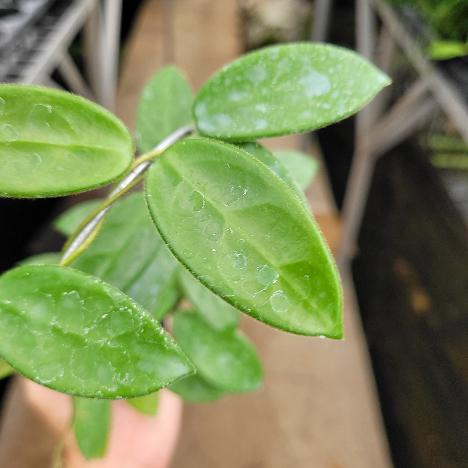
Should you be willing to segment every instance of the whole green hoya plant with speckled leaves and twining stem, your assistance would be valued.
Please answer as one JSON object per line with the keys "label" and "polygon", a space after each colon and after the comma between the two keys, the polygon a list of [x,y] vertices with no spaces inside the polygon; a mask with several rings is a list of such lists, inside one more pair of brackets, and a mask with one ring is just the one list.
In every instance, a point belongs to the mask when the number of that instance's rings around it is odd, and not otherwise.
{"label": "whole green hoya plant with speckled leaves and twining stem", "polygon": [[105,453],[112,399],[154,414],[163,387],[190,402],[259,388],[240,312],[340,339],[340,279],[302,191],[314,164],[257,140],[336,122],[388,84],[325,44],[250,53],[196,96],[170,66],[141,95],[136,158],[128,129],[95,103],[0,85],[3,197],[115,182],[55,221],[68,237],[60,254],[0,277],[0,377],[73,395],[76,438],[93,458]]}

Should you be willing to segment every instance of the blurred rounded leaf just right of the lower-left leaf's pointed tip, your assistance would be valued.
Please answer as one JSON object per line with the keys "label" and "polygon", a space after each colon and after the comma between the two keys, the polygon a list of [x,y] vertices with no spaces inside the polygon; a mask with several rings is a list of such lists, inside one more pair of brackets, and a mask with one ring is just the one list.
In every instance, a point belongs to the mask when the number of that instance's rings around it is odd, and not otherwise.
{"label": "blurred rounded leaf just right of the lower-left leaf's pointed tip", "polygon": [[172,327],[197,375],[208,383],[228,392],[253,392],[262,385],[262,364],[241,331],[217,331],[193,312],[177,312]]}

